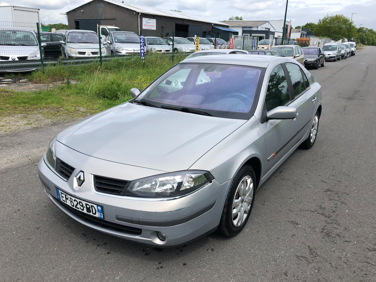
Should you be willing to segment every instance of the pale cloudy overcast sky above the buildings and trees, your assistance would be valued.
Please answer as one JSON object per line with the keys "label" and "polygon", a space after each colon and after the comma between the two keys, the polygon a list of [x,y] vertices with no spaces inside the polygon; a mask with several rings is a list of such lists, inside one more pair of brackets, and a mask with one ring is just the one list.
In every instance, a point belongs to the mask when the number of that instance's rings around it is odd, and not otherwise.
{"label": "pale cloudy overcast sky above the buildings and trees", "polygon": [[[64,14],[88,0],[0,0],[0,6],[14,5],[39,8],[41,23],[65,23]],[[244,20],[277,20],[285,15],[285,0],[124,0],[124,3],[137,3],[161,9],[176,9],[187,14],[202,15],[211,20],[228,20],[231,16],[241,16]],[[326,14],[353,15],[356,26],[376,30],[375,0],[290,0],[287,18],[295,27],[308,22],[317,23]]]}

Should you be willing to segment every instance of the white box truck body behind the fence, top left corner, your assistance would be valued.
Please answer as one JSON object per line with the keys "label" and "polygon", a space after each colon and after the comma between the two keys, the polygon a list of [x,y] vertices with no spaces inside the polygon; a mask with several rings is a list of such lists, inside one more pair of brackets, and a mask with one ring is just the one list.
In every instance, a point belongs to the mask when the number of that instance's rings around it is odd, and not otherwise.
{"label": "white box truck body behind the fence, top left corner", "polygon": [[41,26],[39,9],[20,6],[0,6],[0,27],[23,27],[37,31]]}

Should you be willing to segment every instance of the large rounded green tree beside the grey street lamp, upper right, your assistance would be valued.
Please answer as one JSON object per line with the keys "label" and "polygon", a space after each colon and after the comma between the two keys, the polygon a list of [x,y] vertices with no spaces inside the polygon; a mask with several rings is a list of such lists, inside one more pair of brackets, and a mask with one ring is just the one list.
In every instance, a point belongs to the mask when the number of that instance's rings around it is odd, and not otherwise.
{"label": "large rounded green tree beside the grey street lamp, upper right", "polygon": [[[344,15],[329,16],[327,14],[324,18],[318,20],[313,32],[315,36],[328,37],[334,41],[339,41],[349,36],[349,28],[350,18]],[[350,38],[356,38],[356,32],[357,28],[352,24]]]}

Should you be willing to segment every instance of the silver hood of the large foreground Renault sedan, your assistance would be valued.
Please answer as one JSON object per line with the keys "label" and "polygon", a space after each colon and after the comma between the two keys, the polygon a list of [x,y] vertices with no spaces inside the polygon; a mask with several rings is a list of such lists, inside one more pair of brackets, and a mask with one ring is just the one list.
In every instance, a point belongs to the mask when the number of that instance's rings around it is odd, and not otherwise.
{"label": "silver hood of the large foreground Renault sedan", "polygon": [[245,122],[124,103],[56,139],[95,158],[171,172],[188,169]]}

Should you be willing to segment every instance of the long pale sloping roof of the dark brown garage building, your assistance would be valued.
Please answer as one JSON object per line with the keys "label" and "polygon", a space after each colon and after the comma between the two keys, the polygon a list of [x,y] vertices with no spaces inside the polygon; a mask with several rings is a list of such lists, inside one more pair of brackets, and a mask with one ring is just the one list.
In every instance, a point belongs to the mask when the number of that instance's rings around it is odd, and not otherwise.
{"label": "long pale sloping roof of the dark brown garage building", "polygon": [[[94,0],[93,0],[94,1]],[[123,3],[122,1],[115,1],[115,0],[103,0],[127,9],[130,9],[132,11],[135,11],[137,13],[143,13],[143,14],[150,14],[150,15],[158,15],[158,16],[164,16],[164,17],[171,17],[171,18],[182,18],[185,20],[193,20],[193,21],[202,21],[204,23],[213,23],[213,24],[221,24],[225,26],[229,26],[229,24],[226,23],[221,23],[220,21],[211,21],[210,19],[198,15],[191,15],[191,14],[186,14],[182,12],[176,12],[176,11],[170,11],[170,10],[165,10],[165,9],[159,9],[155,7],[149,7],[149,6],[144,6],[144,5],[138,5],[138,4],[131,4],[131,3]],[[92,1],[89,1],[92,2]],[[89,3],[87,2],[87,3]],[[85,3],[85,4],[87,4]],[[80,5],[82,6],[82,5]],[[74,10],[74,9],[72,9]],[[72,11],[70,10],[70,11]],[[68,12],[70,12],[68,11]],[[67,13],[68,13],[67,12]]]}

